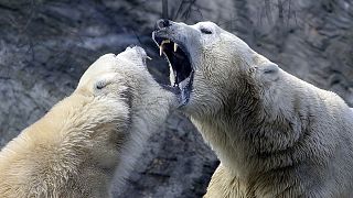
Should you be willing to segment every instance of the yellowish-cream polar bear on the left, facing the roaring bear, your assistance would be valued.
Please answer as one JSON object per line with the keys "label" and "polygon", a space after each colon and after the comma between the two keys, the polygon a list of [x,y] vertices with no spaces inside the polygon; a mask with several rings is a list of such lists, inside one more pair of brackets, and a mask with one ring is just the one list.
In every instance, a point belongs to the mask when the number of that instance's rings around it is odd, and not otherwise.
{"label": "yellowish-cream polar bear on the left, facing the roaring bear", "polygon": [[0,153],[0,197],[110,197],[174,97],[141,47],[99,57],[77,88]]}

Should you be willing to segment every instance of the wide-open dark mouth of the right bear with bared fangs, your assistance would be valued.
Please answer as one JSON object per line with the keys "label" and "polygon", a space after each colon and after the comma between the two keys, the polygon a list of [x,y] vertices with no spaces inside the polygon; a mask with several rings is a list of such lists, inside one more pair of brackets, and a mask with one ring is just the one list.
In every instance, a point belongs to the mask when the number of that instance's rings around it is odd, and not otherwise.
{"label": "wide-open dark mouth of the right bear with bared fangs", "polygon": [[159,46],[160,56],[165,55],[171,66],[170,75],[173,75],[173,87],[178,88],[181,94],[181,102],[185,105],[190,99],[192,90],[194,70],[191,66],[189,52],[181,43],[176,43],[168,37],[153,36]]}

